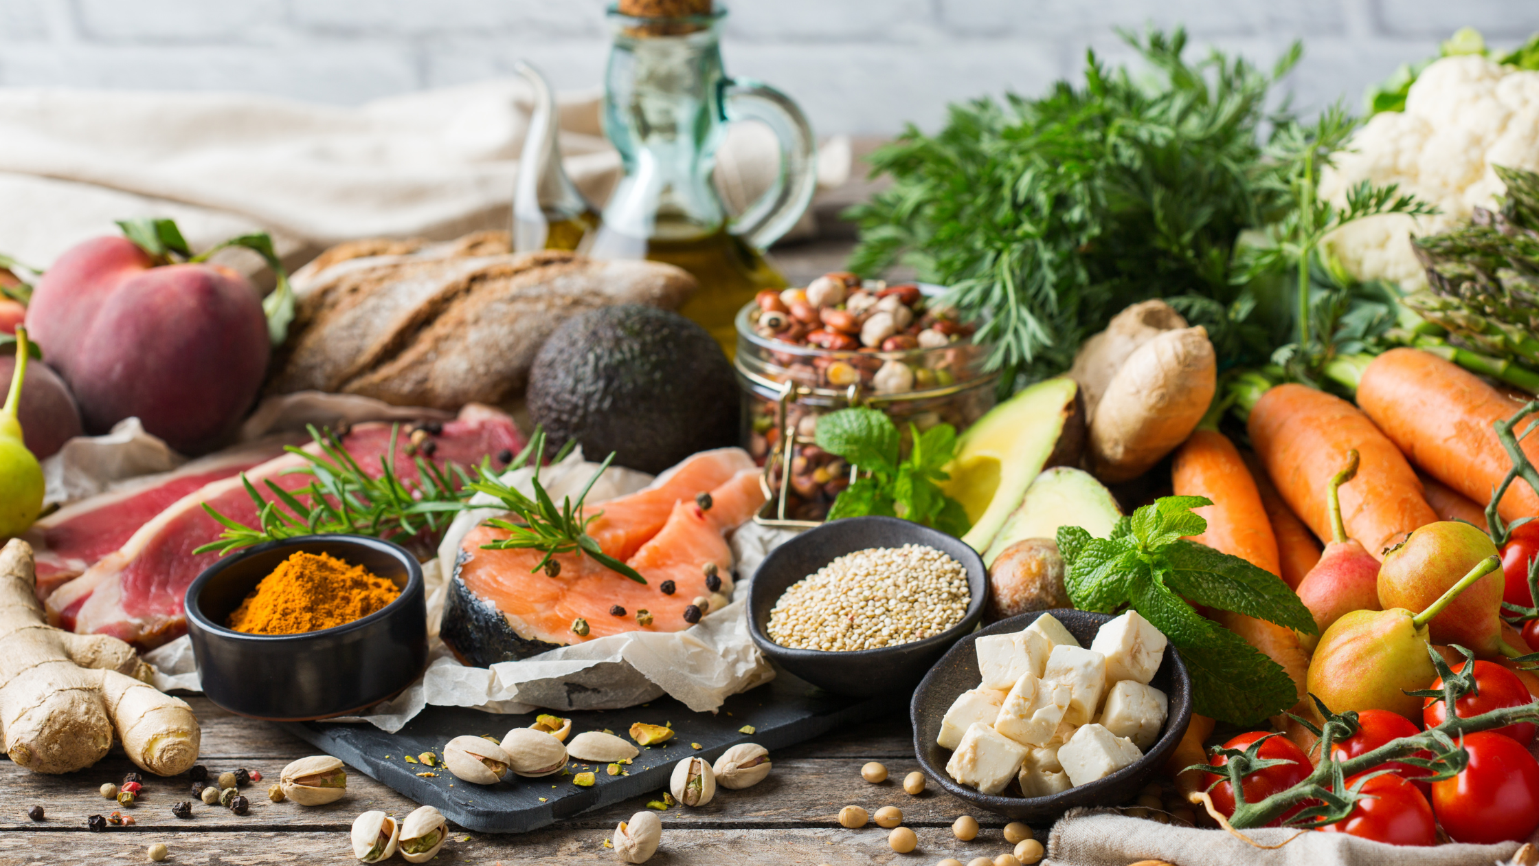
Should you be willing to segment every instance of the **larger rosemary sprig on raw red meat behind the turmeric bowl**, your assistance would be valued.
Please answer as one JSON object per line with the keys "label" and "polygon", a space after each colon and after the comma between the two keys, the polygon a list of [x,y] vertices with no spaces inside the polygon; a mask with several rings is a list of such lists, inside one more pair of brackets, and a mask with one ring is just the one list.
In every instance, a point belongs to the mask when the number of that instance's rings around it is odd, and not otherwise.
{"label": "larger rosemary sprig on raw red meat behind the turmeric bowl", "polygon": [[416,538],[426,533],[429,541],[442,536],[454,513],[465,510],[465,501],[471,495],[469,476],[454,464],[440,468],[432,461],[417,456],[414,459],[417,482],[403,482],[396,473],[399,431],[399,424],[391,428],[389,450],[380,456],[380,475],[376,478],[342,447],[336,433],[320,431],[311,425],[309,435],[320,453],[288,445],[285,450],[305,458],[308,465],[288,468],[280,475],[311,475],[314,479],[297,490],[285,490],[271,478],[263,479],[263,485],[272,495],[272,499],[265,499],[257,485],[242,473],[240,481],[246,485],[246,495],[257,505],[257,525],[245,525],[203,502],[203,510],[219,521],[225,532],[217,541],[192,553],[225,555],[302,535]]}

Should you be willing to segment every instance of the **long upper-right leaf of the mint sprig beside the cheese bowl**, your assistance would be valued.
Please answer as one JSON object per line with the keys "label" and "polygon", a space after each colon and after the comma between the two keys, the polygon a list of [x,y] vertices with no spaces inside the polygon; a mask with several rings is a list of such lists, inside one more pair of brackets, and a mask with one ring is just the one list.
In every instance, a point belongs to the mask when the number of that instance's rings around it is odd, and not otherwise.
{"label": "long upper-right leaf of the mint sprig beside the cheese bowl", "polygon": [[1163,556],[1170,562],[1165,584],[1182,598],[1307,635],[1317,633],[1314,615],[1271,572],[1194,541],[1174,541],[1163,550]]}

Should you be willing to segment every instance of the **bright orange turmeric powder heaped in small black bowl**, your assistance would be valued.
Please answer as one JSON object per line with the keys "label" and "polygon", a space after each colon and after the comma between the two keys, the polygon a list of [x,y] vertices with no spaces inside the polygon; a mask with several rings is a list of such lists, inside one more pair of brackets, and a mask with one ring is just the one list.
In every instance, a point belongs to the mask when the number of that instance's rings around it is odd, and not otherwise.
{"label": "bright orange turmeric powder heaped in small black bowl", "polygon": [[363,566],[300,550],[262,578],[228,626],[249,635],[317,632],[362,619],[399,595],[394,582]]}

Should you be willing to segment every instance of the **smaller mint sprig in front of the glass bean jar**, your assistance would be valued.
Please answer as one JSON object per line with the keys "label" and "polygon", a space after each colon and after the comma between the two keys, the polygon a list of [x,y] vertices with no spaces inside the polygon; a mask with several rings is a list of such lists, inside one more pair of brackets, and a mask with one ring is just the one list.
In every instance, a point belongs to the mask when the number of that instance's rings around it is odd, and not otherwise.
{"label": "smaller mint sprig in front of the glass bean jar", "polygon": [[936,424],[923,433],[908,425],[913,445],[899,459],[899,433],[874,408],[842,408],[817,419],[817,447],[860,468],[860,478],[839,493],[828,519],[882,515],[903,518],[946,535],[970,529],[962,504],[940,490],[950,476],[940,467],[956,453],[957,431]]}

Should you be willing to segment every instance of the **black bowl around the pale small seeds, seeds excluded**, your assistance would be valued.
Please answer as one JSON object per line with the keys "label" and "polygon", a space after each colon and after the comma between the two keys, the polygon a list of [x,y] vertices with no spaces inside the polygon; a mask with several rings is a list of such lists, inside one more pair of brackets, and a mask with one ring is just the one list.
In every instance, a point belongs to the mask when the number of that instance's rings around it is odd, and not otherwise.
{"label": "black bowl around the pale small seeds, seeds excluded", "polygon": [[[803,650],[783,647],[770,639],[770,610],[786,587],[845,553],[903,544],[934,547],[966,569],[973,599],[962,623],[933,638],[874,650]],[[960,539],[897,518],[845,518],[803,532],[770,552],[754,572],[748,593],[748,630],[760,652],[814,686],[860,698],[893,695],[913,689],[946,647],[977,626],[983,615],[986,590],[983,559]]]}

